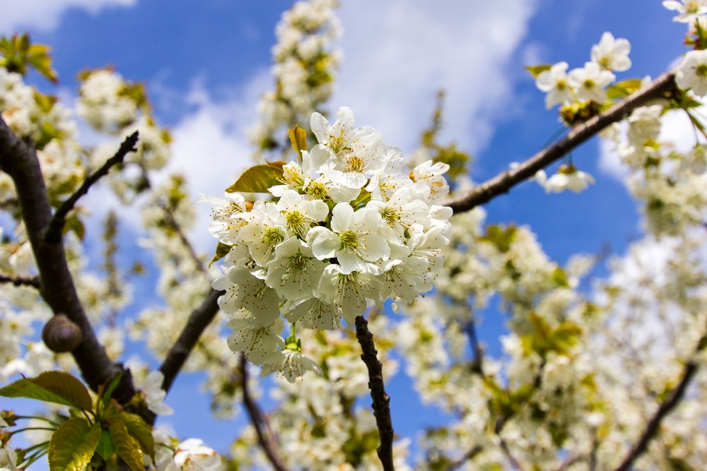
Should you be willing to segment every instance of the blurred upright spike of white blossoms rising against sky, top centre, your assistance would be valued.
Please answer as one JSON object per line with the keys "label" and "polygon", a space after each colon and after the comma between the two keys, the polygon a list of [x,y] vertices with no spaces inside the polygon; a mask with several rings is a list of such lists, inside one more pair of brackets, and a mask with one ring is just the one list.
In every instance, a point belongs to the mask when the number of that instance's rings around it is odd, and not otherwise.
{"label": "blurred upright spike of white blossoms rising against sky, top centre", "polygon": [[338,3],[297,1],[283,13],[272,48],[276,88],[260,97],[261,119],[249,131],[259,154],[286,143],[287,128],[308,119],[329,99],[341,55],[332,47],[341,35],[334,13]]}

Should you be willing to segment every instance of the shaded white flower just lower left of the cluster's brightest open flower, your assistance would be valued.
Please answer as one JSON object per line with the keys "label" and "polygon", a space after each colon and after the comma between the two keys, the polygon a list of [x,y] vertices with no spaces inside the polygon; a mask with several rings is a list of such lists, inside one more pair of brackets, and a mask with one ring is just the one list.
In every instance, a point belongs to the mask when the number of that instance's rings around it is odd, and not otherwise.
{"label": "shaded white flower just lower left of the cluster's brightest open flower", "polygon": [[325,263],[313,258],[307,244],[290,237],[276,247],[274,258],[267,264],[265,284],[288,301],[310,298],[324,268]]}

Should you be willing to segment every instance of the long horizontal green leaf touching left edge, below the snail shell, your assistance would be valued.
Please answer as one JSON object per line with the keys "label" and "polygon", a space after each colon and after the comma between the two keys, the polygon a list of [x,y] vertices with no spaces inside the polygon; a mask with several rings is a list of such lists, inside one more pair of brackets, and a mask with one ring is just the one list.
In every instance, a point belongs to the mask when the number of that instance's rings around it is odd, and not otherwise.
{"label": "long horizontal green leaf touching left edge, below the snail shell", "polygon": [[22,378],[0,389],[6,398],[29,398],[90,410],[93,403],[81,381],[64,371],[46,371],[36,378]]}

